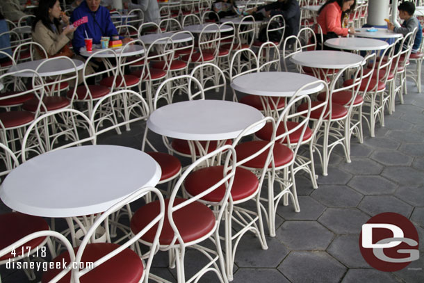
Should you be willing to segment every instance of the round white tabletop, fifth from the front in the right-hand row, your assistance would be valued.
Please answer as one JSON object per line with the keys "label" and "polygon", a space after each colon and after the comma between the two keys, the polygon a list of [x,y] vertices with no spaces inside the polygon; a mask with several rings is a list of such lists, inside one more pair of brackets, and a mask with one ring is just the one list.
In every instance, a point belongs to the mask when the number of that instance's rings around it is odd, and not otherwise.
{"label": "round white tabletop, fifth from the front in the right-hand row", "polygon": [[373,38],[330,38],[324,45],[344,50],[369,51],[386,49],[389,43]]}

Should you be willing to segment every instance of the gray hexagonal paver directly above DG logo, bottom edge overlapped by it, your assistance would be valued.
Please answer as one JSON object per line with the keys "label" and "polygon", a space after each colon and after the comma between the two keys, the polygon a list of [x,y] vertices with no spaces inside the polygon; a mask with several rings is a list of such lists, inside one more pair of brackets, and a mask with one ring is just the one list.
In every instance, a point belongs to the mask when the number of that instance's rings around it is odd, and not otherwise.
{"label": "gray hexagonal paver directly above DG logo, bottom edge overlapped by it", "polygon": [[409,218],[412,207],[391,195],[366,195],[358,206],[361,211],[375,216],[383,212],[396,212]]}

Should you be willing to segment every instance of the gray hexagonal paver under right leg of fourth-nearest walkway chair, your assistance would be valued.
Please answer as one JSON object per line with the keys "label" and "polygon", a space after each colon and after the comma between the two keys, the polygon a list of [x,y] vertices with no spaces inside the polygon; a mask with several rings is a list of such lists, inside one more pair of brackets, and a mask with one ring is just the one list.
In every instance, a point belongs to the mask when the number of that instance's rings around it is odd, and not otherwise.
{"label": "gray hexagonal paver under right leg of fourth-nearest walkway chair", "polygon": [[277,207],[277,214],[285,220],[317,220],[325,210],[323,204],[313,200],[312,197],[300,195],[298,199],[300,212],[295,212],[290,202],[286,207],[280,202]]}

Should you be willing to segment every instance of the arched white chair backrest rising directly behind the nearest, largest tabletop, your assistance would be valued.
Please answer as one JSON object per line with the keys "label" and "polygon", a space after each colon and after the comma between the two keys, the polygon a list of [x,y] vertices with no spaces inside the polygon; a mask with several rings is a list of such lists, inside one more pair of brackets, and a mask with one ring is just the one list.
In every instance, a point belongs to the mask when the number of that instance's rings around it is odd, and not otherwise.
{"label": "arched white chair backrest rising directly behind the nearest, largest tabletop", "polygon": [[22,140],[22,162],[27,156],[31,158],[88,142],[95,144],[96,135],[84,113],[71,108],[50,111],[40,115],[26,129]]}

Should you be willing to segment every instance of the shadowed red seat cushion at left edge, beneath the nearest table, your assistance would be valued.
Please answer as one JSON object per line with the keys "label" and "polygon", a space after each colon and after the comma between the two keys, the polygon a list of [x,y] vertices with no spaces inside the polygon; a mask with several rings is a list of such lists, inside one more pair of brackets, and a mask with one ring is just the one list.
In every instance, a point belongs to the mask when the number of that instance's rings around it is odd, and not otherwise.
{"label": "shadowed red seat cushion at left edge, beneath the nearest table", "polygon": [[[24,238],[24,236],[38,231],[49,230],[49,224],[47,224],[46,220],[43,218],[38,216],[29,216],[19,212],[0,214],[0,227],[3,227],[3,233],[0,233],[0,250],[15,243],[21,238]],[[34,238],[22,246],[16,247],[15,255],[10,253],[5,254],[3,257],[0,257],[0,261],[21,255],[21,247],[24,248],[24,252],[28,252],[28,248],[26,247],[31,247],[31,250],[35,250],[35,248],[38,247],[45,238],[46,237]]]}

